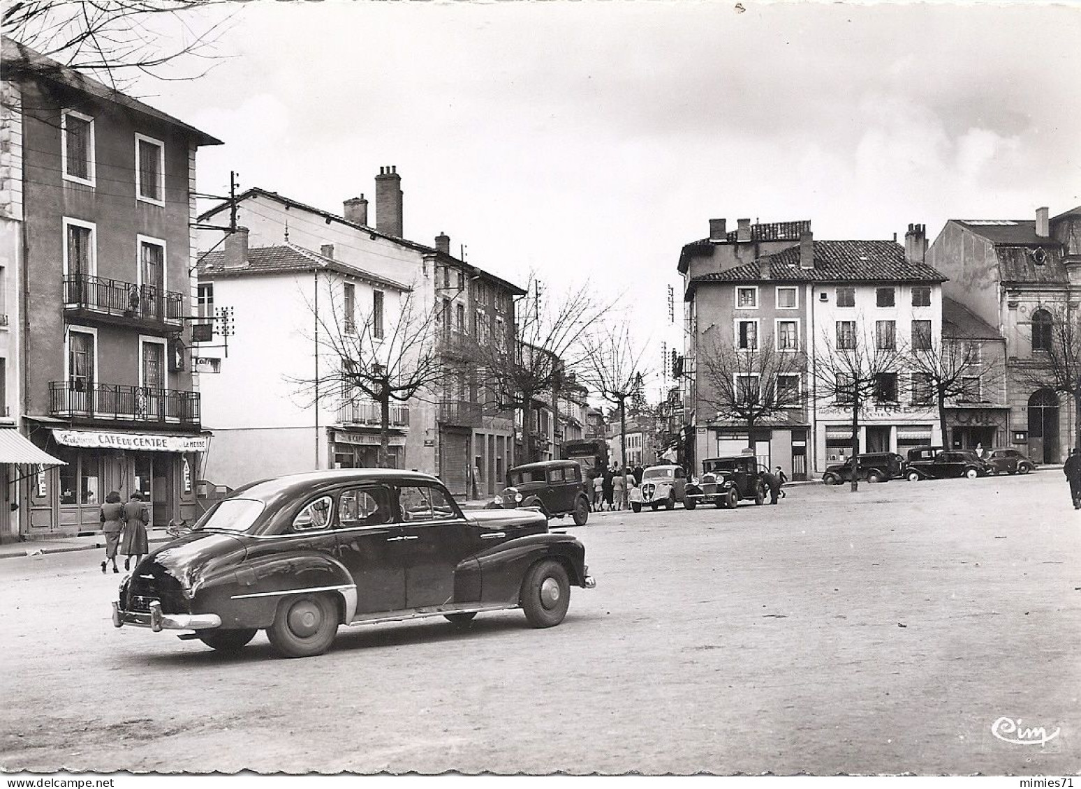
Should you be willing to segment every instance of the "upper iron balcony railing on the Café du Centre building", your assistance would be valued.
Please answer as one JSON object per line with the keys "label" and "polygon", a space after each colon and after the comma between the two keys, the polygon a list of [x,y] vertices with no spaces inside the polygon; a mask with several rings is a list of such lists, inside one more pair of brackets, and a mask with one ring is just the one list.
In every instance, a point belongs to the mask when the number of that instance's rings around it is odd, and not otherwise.
{"label": "upper iron balcony railing on the Caf\u00e9 du Centre building", "polygon": [[64,309],[108,315],[125,323],[179,324],[184,296],[155,285],[69,274],[64,277]]}

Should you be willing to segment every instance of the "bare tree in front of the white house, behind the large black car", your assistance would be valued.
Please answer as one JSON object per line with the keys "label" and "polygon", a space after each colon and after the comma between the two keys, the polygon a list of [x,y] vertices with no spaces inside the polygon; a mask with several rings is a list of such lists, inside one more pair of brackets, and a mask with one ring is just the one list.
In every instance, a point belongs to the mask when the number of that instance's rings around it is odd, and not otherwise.
{"label": "bare tree in front of the white house, behind the large black car", "polygon": [[[443,366],[436,342],[439,308],[425,310],[414,291],[401,294],[400,309],[392,314],[376,311],[356,314],[343,298],[341,280],[324,276],[317,282],[309,303],[313,315],[312,341],[316,369],[311,377],[293,379],[298,392],[315,404],[343,406],[374,403],[379,409],[379,448],[376,463],[388,467],[390,406],[423,398],[438,391]],[[324,364],[320,364],[320,363]]]}

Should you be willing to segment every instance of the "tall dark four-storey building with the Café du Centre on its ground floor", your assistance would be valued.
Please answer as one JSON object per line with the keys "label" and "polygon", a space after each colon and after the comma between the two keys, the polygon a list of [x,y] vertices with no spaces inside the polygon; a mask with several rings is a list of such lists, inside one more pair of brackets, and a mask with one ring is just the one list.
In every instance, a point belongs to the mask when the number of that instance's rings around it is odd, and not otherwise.
{"label": "tall dark four-storey building with the Caf\u00e9 du Centre on its ground floor", "polygon": [[110,491],[143,493],[155,526],[193,518],[209,436],[188,354],[189,226],[197,149],[219,140],[3,43],[21,97],[22,187],[8,185],[21,239],[3,236],[25,271],[18,419],[65,463],[21,481],[19,534],[95,531]]}

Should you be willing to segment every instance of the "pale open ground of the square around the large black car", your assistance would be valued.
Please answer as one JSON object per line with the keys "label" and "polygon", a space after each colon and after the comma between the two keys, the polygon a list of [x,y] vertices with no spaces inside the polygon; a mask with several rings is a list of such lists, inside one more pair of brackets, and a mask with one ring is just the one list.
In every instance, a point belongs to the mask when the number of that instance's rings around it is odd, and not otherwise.
{"label": "pale open ground of the square around the large black car", "polygon": [[[1060,472],[805,486],[575,531],[598,587],[557,628],[343,628],[301,661],[262,634],[224,657],[114,629],[98,552],[6,559],[0,766],[1081,770],[1081,514]],[[1003,742],[1000,718],[1058,734]]]}

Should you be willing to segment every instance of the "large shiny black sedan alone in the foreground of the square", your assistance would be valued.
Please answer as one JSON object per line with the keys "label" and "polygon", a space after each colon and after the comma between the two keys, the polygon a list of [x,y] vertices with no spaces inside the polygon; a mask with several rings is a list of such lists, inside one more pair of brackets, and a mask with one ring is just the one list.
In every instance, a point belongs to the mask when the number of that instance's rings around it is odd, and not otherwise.
{"label": "large shiny black sedan alone in the foreground of the square", "polygon": [[304,657],[326,651],[339,625],[466,623],[520,607],[551,627],[572,585],[595,585],[585,547],[539,513],[464,515],[442,482],[415,472],[310,472],[217,502],[124,579],[112,624],[190,630],[181,638],[223,651],[266,629],[279,653]]}

